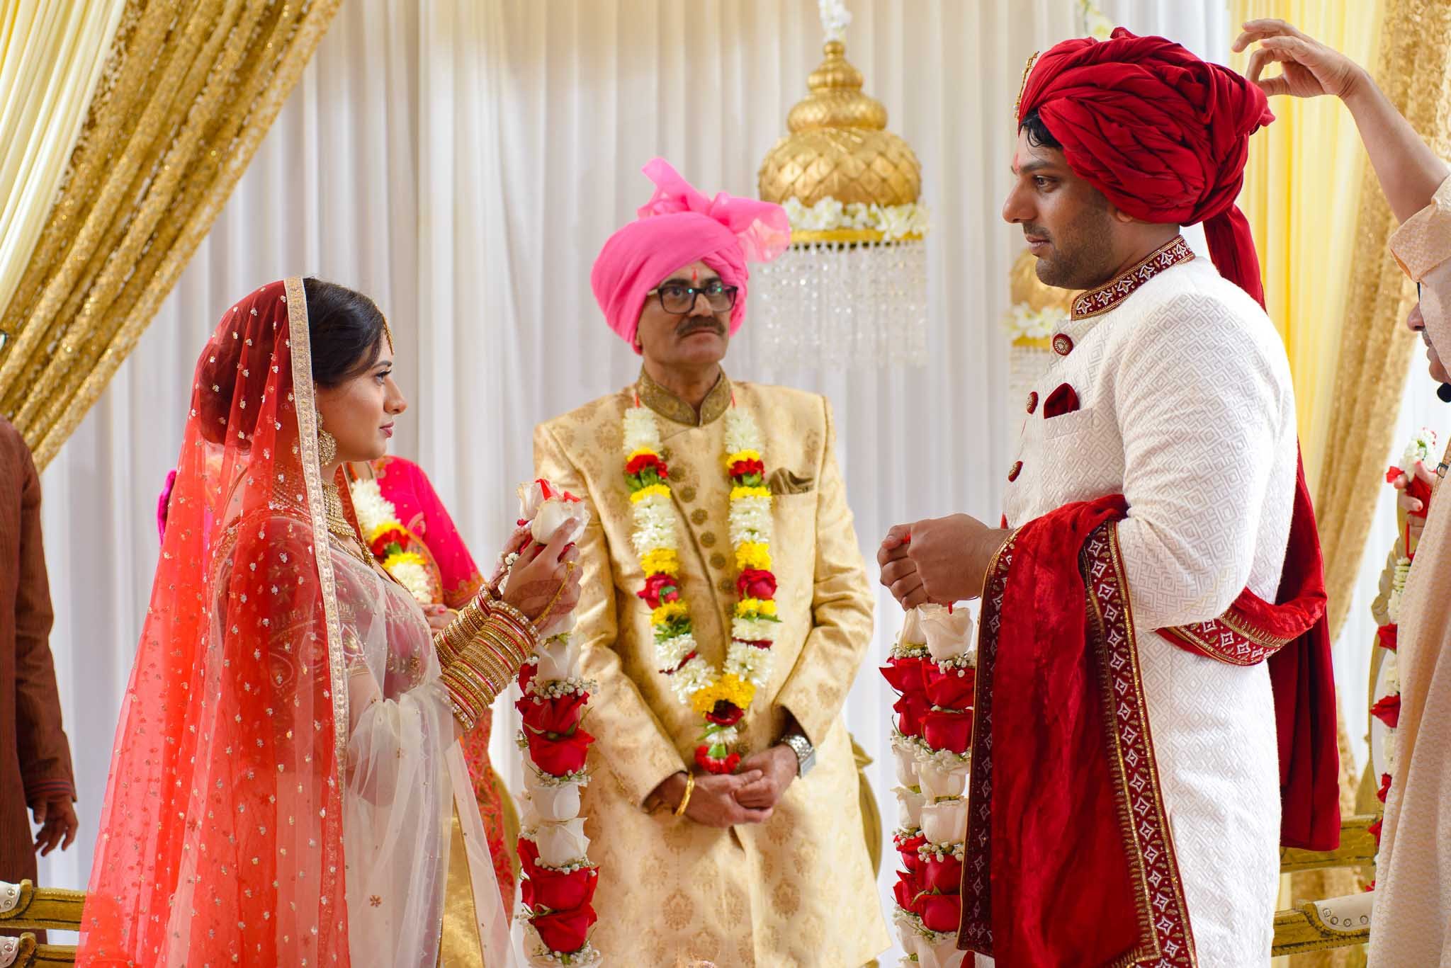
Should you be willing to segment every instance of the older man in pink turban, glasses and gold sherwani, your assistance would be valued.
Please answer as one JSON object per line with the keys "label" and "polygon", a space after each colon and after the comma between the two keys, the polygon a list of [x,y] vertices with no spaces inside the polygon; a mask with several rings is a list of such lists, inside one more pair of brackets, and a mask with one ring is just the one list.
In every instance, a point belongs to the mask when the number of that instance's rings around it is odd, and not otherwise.
{"label": "older man in pink turban, glasses and gold sherwani", "polygon": [[643,357],[541,424],[538,473],[585,495],[576,611],[598,769],[593,943],[618,964],[863,965],[888,946],[842,705],[872,592],[815,393],[730,380],[752,261],[785,212],[667,163],[591,273]]}

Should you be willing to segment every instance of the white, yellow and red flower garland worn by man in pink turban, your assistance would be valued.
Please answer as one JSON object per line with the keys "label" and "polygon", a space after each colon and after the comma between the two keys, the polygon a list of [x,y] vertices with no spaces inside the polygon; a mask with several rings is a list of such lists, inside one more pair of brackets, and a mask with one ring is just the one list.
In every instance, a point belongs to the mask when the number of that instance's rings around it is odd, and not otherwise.
{"label": "white, yellow and red flower garland worn by man in pink turban", "polygon": [[740,753],[731,749],[739,740],[736,724],[750,708],[756,689],[770,681],[770,646],[781,621],[776,576],[770,570],[772,495],[760,430],[734,403],[724,421],[730,540],[739,576],[731,641],[723,668],[715,670],[699,655],[689,607],[681,594],[679,533],[659,424],[638,399],[624,415],[624,473],[634,509],[636,553],[644,573],[638,595],[651,610],[660,672],[670,676],[676,697],[705,720],[695,762],[712,774],[731,774],[740,765]]}

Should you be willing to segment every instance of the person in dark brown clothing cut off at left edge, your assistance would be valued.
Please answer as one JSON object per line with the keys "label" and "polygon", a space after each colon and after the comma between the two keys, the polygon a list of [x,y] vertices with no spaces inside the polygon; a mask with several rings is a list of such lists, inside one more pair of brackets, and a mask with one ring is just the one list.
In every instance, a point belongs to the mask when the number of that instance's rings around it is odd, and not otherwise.
{"label": "person in dark brown clothing cut off at left edge", "polygon": [[[36,878],[35,855],[75,840],[75,779],[48,643],[41,476],[0,417],[0,881]],[[30,840],[30,808],[41,832]]]}

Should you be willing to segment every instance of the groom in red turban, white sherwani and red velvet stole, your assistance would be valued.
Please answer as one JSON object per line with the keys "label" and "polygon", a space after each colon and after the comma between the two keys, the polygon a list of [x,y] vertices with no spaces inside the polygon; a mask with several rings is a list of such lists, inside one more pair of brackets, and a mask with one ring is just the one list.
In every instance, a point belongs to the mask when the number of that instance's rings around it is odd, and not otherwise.
{"label": "groom in red turban, white sherwani and red velvet stole", "polygon": [[1294,393],[1233,205],[1273,116],[1119,29],[1045,54],[1017,118],[1003,218],[1085,292],[1023,403],[1006,527],[918,521],[879,551],[905,607],[982,595],[959,945],[1264,965],[1277,848],[1339,833]]}

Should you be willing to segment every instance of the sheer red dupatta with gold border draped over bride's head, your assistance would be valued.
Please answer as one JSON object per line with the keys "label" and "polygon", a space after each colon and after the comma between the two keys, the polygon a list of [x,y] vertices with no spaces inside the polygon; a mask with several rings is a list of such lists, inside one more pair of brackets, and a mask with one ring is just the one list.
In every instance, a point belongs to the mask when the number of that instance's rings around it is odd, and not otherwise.
{"label": "sheer red dupatta with gold border draped over bride's head", "polygon": [[347,965],[347,689],[302,280],[196,369],[80,965]]}

